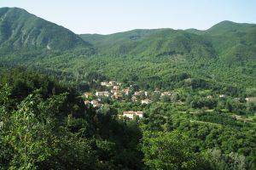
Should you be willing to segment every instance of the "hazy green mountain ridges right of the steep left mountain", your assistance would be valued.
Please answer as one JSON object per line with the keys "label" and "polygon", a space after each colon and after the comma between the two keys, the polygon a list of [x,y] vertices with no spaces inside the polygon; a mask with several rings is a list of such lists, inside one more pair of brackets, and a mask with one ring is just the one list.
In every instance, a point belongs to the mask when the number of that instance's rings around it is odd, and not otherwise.
{"label": "hazy green mountain ridges right of the steep left mountain", "polygon": [[102,54],[218,57],[241,65],[256,60],[256,25],[223,21],[206,31],[196,29],[134,30],[111,35],[80,35]]}

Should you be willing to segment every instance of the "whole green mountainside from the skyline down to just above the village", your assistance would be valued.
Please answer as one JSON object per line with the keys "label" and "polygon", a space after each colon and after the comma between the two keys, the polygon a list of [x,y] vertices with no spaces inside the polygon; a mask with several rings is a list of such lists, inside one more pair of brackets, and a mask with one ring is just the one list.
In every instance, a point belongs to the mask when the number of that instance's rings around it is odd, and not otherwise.
{"label": "whole green mountainside from the skyline down to just above the village", "polygon": [[256,85],[253,24],[223,21],[207,31],[166,28],[75,35],[20,8],[1,8],[0,14],[3,65],[65,71],[82,82],[84,75],[98,72],[148,88],[173,88],[169,77],[183,73],[235,87]]}

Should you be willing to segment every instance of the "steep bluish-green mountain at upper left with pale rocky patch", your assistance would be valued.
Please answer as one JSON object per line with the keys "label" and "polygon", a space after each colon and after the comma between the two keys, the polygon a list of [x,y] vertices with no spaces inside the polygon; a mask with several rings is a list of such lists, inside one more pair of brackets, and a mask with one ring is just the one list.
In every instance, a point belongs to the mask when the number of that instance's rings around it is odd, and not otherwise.
{"label": "steep bluish-green mountain at upper left with pale rocky patch", "polygon": [[90,47],[72,31],[29,14],[21,8],[0,8],[0,48],[66,50]]}

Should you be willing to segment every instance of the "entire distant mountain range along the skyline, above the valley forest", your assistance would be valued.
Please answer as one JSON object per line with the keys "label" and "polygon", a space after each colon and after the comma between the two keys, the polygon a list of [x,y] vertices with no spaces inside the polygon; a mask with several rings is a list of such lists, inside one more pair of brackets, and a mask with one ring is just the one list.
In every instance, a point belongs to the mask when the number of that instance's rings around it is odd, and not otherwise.
{"label": "entire distant mountain range along the skyline, above the valley forest", "polygon": [[253,66],[255,62],[256,25],[253,24],[223,21],[206,31],[155,29],[78,36],[20,8],[1,8],[0,18],[1,53],[22,48],[70,50],[79,47],[96,48],[97,54],[137,58],[182,54],[195,59],[217,57],[230,65]]}

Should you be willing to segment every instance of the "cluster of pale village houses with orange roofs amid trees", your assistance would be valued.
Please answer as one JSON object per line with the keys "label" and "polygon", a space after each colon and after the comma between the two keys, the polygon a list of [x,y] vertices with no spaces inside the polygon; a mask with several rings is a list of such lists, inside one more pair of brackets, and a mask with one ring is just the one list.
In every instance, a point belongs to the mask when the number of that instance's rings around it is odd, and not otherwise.
{"label": "cluster of pale village houses with orange roofs amid trees", "polygon": [[[158,89],[148,92],[139,90],[135,88],[134,85],[124,87],[123,83],[116,81],[101,82],[101,86],[106,90],[84,93],[85,105],[92,105],[95,108],[100,108],[105,104],[106,99],[114,99],[123,102],[137,102],[141,105],[149,105],[159,99],[177,99],[177,92],[161,92]],[[143,118],[143,111],[124,111],[123,116],[130,119],[134,119],[136,116],[138,116],[138,118]]]}

